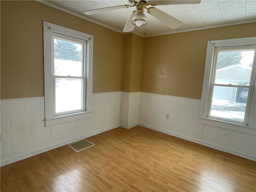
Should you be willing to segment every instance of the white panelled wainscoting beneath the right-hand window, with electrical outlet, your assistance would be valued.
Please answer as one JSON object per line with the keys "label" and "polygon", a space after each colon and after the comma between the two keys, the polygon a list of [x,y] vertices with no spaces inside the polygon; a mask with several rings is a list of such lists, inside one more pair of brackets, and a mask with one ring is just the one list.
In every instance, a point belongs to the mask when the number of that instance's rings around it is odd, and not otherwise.
{"label": "white panelled wainscoting beneath the right-hand window, with electrical outlet", "polygon": [[[256,160],[256,131],[198,123],[200,100],[140,92],[139,124],[211,148]],[[169,114],[169,119],[166,119]],[[241,129],[242,130],[242,129]]]}

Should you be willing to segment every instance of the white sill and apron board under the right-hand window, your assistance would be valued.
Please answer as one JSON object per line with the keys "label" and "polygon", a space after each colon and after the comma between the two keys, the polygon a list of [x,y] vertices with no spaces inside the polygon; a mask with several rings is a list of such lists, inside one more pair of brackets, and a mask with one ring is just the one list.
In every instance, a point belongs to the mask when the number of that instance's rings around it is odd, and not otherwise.
{"label": "white sill and apron board under the right-hand window", "polygon": [[210,126],[220,127],[228,130],[238,131],[246,134],[256,135],[256,128],[248,125],[236,124],[232,122],[226,122],[216,120],[207,117],[199,117],[198,122]]}

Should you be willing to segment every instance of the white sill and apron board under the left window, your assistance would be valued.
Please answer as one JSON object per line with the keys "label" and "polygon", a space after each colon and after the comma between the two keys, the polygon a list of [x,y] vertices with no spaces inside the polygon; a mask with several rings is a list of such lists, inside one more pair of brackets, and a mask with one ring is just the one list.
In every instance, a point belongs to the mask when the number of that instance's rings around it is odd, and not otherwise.
{"label": "white sill and apron board under the left window", "polygon": [[66,123],[70,121],[75,121],[79,119],[92,117],[92,111],[84,111],[78,113],[72,113],[67,115],[56,116],[52,118],[47,118],[45,120],[45,126],[57,125],[61,123]]}

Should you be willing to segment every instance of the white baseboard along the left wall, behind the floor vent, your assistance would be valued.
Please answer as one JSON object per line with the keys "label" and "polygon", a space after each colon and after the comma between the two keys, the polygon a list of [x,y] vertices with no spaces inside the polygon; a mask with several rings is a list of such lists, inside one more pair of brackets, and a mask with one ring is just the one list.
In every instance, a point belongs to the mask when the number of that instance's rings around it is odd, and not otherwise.
{"label": "white baseboard along the left wall, behind the floor vent", "polygon": [[73,142],[76,142],[76,141],[79,141],[79,140],[82,140],[82,139],[85,139],[85,138],[88,138],[88,137],[91,137],[91,136],[94,136],[94,135],[97,135],[97,134],[100,134],[102,132],[112,130],[114,128],[118,128],[118,127],[120,127],[120,124],[110,126],[110,127],[107,127],[107,128],[101,129],[101,130],[97,130],[97,131],[94,131],[94,132],[91,132],[91,133],[88,133],[88,134],[85,134],[85,135],[82,135],[82,136],[79,136],[79,137],[76,137],[76,138],[73,138],[73,139],[70,139],[70,140],[66,140],[66,141],[60,142],[58,144],[54,144],[54,145],[51,145],[51,146],[40,148],[38,150],[28,152],[28,153],[22,154],[20,156],[16,156],[16,157],[13,157],[13,158],[10,158],[10,159],[3,160],[0,163],[0,167],[11,164],[11,163],[14,163],[14,162],[17,162],[17,161],[20,161],[20,160],[23,160],[23,159],[26,159],[26,158],[29,158],[29,157],[32,157],[32,156],[35,156],[35,155],[38,155],[40,153],[43,153],[43,152],[46,152],[46,151],[49,151],[49,150],[52,150],[52,149],[55,149],[55,148],[73,143]]}

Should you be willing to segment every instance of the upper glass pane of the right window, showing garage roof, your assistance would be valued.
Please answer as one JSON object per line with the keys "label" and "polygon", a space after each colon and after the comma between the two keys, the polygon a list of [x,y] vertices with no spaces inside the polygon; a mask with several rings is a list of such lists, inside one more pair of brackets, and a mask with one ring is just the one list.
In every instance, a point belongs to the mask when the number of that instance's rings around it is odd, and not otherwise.
{"label": "upper glass pane of the right window, showing garage roof", "polygon": [[249,85],[254,51],[218,52],[215,84]]}

